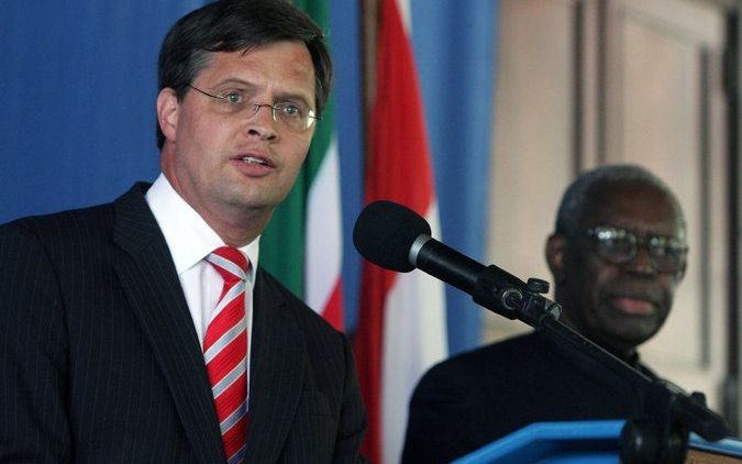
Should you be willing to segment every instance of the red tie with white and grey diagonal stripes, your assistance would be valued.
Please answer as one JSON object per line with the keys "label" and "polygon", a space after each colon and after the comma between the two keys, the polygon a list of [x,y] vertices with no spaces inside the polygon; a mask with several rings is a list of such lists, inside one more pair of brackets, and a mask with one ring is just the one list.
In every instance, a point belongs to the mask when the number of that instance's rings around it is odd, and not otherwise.
{"label": "red tie with white and grey diagonal stripes", "polygon": [[203,339],[211,391],[229,464],[243,462],[247,438],[247,261],[237,248],[222,246],[207,261],[224,279],[222,294]]}

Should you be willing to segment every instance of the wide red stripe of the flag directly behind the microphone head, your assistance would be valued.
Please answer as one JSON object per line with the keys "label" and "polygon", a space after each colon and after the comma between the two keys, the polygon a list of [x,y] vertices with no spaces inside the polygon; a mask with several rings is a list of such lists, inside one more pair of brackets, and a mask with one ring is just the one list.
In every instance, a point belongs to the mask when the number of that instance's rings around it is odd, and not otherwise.
{"label": "wide red stripe of the flag directly behind the microphone head", "polygon": [[[387,199],[421,216],[433,201],[433,176],[412,47],[395,0],[381,0],[376,99],[368,125],[366,202]],[[381,463],[381,358],[385,300],[396,274],[364,262],[355,336],[361,391],[368,412],[362,452]]]}

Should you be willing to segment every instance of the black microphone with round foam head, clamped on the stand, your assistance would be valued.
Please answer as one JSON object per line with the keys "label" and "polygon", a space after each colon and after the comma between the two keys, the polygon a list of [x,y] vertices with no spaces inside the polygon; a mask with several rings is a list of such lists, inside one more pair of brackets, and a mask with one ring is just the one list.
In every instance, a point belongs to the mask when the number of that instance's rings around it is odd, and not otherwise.
{"label": "black microphone with round foam head, clamped on the stand", "polygon": [[378,266],[400,273],[417,267],[510,319],[519,317],[516,311],[523,294],[533,291],[512,274],[485,266],[433,239],[428,221],[394,201],[374,201],[364,208],[353,228],[353,244]]}

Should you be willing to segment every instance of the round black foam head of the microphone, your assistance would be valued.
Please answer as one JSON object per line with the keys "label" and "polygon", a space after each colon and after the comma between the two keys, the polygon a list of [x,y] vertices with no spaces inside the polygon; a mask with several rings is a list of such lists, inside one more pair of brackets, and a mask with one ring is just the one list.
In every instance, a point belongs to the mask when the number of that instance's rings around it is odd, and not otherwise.
{"label": "round black foam head of the microphone", "polygon": [[361,211],[353,228],[355,248],[372,263],[399,273],[414,269],[409,254],[430,224],[420,214],[394,201],[379,200]]}

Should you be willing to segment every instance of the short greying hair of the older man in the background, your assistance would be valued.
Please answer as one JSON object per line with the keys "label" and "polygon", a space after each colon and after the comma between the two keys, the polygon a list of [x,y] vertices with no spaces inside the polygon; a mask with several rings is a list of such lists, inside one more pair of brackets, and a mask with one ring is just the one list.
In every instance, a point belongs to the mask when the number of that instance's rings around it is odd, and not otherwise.
{"label": "short greying hair of the older man in the background", "polygon": [[587,170],[575,178],[562,197],[554,233],[567,237],[575,236],[579,232],[580,221],[596,189],[625,183],[640,183],[662,191],[672,201],[678,219],[685,227],[680,202],[660,177],[635,164],[612,164]]}

